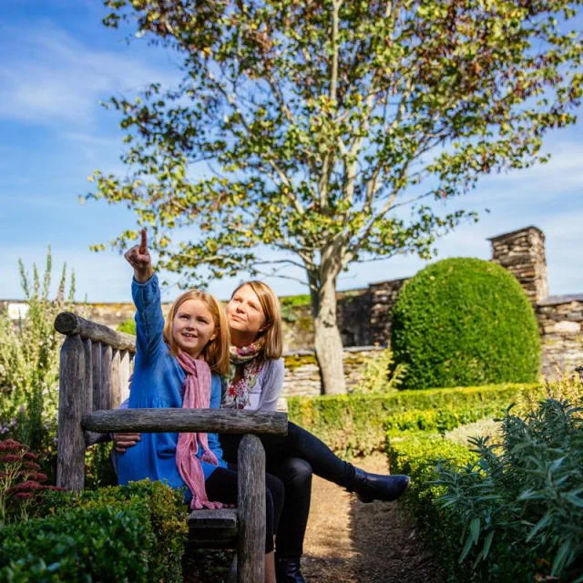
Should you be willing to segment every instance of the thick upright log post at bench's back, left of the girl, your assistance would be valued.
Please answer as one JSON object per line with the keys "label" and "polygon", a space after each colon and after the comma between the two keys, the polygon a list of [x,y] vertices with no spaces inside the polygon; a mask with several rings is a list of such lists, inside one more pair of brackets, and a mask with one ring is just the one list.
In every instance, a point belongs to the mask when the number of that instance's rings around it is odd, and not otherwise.
{"label": "thick upright log post at bench's back, left of the girl", "polygon": [[85,406],[86,358],[81,338],[68,336],[61,348],[58,396],[56,486],[79,491],[85,485],[85,436],[81,427]]}

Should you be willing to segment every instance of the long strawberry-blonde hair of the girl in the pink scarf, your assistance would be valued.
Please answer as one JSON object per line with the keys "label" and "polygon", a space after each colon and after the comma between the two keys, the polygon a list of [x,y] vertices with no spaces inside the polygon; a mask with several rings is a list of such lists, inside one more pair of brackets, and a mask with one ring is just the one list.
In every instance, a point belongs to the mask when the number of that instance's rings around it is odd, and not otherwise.
{"label": "long strawberry-blonde hair of the girl in the pink scarf", "polygon": [[172,324],[179,307],[188,300],[199,300],[209,309],[212,321],[215,324],[215,337],[202,349],[200,353],[205,362],[209,364],[210,371],[217,374],[229,374],[229,323],[223,307],[210,293],[202,290],[190,290],[184,292],[170,306],[170,311],[164,322],[164,341],[169,345],[170,353],[175,356],[179,353],[179,346],[172,336]]}

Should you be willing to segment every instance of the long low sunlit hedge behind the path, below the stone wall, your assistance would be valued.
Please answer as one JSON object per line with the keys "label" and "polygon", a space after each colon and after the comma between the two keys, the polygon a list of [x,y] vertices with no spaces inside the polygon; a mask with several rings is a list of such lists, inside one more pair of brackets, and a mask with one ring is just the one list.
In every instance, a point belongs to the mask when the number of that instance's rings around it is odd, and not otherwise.
{"label": "long low sunlit hedge behind the path, below the stone wall", "polygon": [[411,410],[504,410],[522,394],[541,391],[539,384],[496,384],[392,394],[290,397],[288,414],[293,423],[320,437],[337,454],[366,455],[383,450],[383,424],[391,415]]}

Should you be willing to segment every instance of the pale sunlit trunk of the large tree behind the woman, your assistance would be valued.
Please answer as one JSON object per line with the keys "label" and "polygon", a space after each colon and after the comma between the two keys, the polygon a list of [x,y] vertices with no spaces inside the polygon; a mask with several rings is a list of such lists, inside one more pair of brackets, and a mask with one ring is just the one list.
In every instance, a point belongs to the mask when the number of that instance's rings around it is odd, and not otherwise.
{"label": "pale sunlit trunk of the large tree behind the woman", "polygon": [[343,341],[336,322],[336,278],[322,278],[319,293],[312,293],[316,359],[322,378],[322,394],[346,393]]}

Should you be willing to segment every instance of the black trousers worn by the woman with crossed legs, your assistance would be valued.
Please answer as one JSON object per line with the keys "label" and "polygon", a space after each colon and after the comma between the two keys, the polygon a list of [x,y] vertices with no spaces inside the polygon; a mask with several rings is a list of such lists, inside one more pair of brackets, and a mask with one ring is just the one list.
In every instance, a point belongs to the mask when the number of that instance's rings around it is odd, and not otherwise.
{"label": "black trousers worn by the woman with crossed legs", "polygon": [[[353,465],[332,453],[328,445],[299,425],[288,423],[288,435],[261,435],[266,469],[280,478],[285,496],[277,534],[278,557],[301,557],[310,514],[312,472],[339,486],[350,486]],[[223,458],[237,462],[241,435],[220,434]],[[212,476],[211,476],[212,477]]]}

